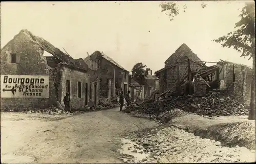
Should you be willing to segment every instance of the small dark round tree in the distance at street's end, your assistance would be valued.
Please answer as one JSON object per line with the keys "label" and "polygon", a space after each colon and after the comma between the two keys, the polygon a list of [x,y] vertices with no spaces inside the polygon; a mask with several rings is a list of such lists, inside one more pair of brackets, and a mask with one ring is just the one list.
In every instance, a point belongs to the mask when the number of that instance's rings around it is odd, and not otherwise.
{"label": "small dark round tree in the distance at street's end", "polygon": [[146,65],[143,65],[141,62],[137,63],[133,66],[132,69],[132,77],[135,78],[135,80],[140,83],[145,83],[145,77],[148,75],[148,72],[151,71],[150,68],[146,68]]}

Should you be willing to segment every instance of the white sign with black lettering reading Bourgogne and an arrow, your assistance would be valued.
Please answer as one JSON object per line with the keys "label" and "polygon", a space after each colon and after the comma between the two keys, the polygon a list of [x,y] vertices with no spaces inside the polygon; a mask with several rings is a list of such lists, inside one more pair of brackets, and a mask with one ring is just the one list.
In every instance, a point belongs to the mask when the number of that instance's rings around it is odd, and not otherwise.
{"label": "white sign with black lettering reading Bourgogne and an arrow", "polygon": [[49,98],[49,76],[1,75],[1,98]]}

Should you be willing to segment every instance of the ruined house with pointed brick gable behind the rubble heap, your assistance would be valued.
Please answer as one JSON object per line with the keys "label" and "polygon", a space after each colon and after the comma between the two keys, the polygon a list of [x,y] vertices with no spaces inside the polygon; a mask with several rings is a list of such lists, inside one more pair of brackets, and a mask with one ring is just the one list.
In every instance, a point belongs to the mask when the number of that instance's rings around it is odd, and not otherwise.
{"label": "ruined house with pointed brick gable behind the rubble heap", "polygon": [[164,63],[164,68],[155,72],[155,75],[159,78],[160,92],[168,89],[176,90],[179,82],[188,78],[188,69],[190,69],[190,72],[195,72],[207,67],[184,43]]}

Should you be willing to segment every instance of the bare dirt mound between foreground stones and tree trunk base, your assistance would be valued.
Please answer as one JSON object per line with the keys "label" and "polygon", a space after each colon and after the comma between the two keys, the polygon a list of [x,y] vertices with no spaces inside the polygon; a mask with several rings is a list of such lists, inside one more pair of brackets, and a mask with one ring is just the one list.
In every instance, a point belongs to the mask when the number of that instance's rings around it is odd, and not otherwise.
{"label": "bare dirt mound between foreground stones and tree trunk base", "polygon": [[175,118],[172,125],[202,138],[219,140],[226,147],[246,147],[255,150],[255,122],[247,116],[206,118],[196,114]]}

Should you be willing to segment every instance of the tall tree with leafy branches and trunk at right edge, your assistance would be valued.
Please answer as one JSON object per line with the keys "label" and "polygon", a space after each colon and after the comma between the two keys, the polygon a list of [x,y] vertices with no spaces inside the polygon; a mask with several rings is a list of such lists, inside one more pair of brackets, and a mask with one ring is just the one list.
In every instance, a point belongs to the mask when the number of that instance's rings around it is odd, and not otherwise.
{"label": "tall tree with leafy branches and trunk at right edge", "polygon": [[242,52],[241,57],[252,58],[252,82],[249,120],[255,120],[255,5],[246,3],[239,15],[241,20],[235,25],[235,31],[228,33],[214,41],[221,43],[223,47]]}

